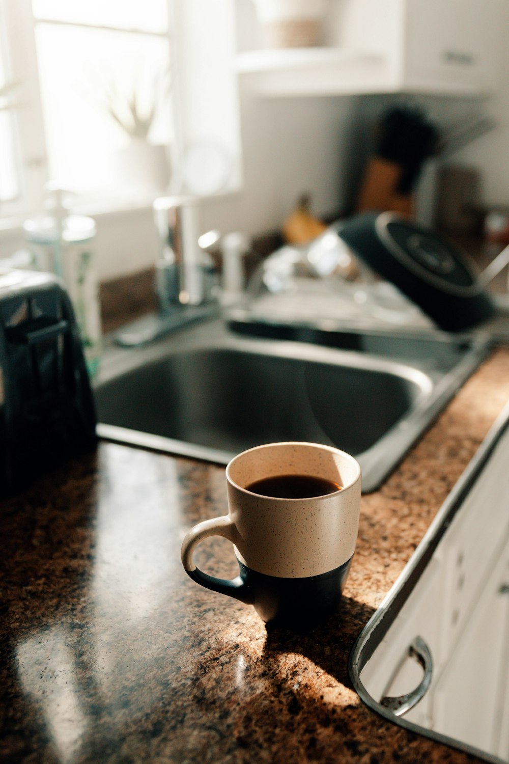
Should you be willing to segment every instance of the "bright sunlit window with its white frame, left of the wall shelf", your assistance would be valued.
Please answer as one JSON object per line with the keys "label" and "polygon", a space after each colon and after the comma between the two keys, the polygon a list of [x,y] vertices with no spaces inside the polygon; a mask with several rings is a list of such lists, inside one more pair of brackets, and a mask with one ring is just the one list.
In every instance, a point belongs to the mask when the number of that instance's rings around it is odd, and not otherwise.
{"label": "bright sunlit window with its white frame, left of the wall shelf", "polygon": [[[0,215],[41,209],[48,181],[93,209],[127,208],[134,187],[120,170],[135,141],[119,121],[134,128],[133,99],[140,134],[154,110],[138,147],[166,147],[172,193],[192,193],[188,155],[200,170],[226,157],[221,192],[238,188],[233,50],[234,0],[0,0],[0,88],[20,83],[14,109],[2,111],[0,90]],[[148,204],[143,188],[134,202]]]}

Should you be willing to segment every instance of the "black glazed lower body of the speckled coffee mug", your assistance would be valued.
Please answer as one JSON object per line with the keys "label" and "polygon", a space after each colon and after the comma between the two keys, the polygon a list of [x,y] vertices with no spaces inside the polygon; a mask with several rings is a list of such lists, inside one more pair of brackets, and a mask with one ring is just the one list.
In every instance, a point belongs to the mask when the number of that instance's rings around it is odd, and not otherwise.
{"label": "black glazed lower body of the speckled coffee mug", "polygon": [[339,568],[306,578],[264,575],[237,562],[250,601],[268,626],[307,628],[337,610],[352,558]]}

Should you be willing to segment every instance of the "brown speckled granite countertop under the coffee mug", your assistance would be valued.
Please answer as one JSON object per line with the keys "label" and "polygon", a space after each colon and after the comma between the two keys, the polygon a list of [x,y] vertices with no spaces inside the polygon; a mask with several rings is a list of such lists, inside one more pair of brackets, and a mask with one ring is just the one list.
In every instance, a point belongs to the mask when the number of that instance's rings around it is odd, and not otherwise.
{"label": "brown speckled granite countertop under the coffee mug", "polygon": [[[369,711],[347,672],[509,398],[495,351],[375,494],[340,610],[308,633],[199,587],[179,549],[227,512],[224,468],[101,442],[0,503],[1,762],[467,762]],[[234,574],[225,539],[198,564]]]}

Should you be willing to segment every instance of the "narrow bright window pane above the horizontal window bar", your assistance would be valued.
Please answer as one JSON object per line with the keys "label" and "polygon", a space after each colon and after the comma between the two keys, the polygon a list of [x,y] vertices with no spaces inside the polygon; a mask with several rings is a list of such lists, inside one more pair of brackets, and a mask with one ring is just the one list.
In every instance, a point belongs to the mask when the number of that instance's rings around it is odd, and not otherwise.
{"label": "narrow bright window pane above the horizontal window bar", "polygon": [[167,0],[32,0],[36,18],[165,32]]}

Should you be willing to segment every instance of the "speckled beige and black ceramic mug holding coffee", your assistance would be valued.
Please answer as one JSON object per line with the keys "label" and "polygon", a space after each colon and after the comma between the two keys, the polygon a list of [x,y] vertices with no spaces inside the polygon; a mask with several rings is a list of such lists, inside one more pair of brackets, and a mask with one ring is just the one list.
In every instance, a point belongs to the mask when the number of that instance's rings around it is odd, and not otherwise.
{"label": "speckled beige and black ceramic mug holding coffee", "polygon": [[[340,490],[285,499],[248,490],[279,475],[332,481]],[[336,610],[359,529],[361,473],[337,448],[269,443],[237,455],[226,470],[229,513],[198,523],[182,542],[182,564],[201,586],[253,604],[266,623],[306,626]],[[240,575],[231,581],[196,568],[192,556],[207,536],[234,544]]]}

